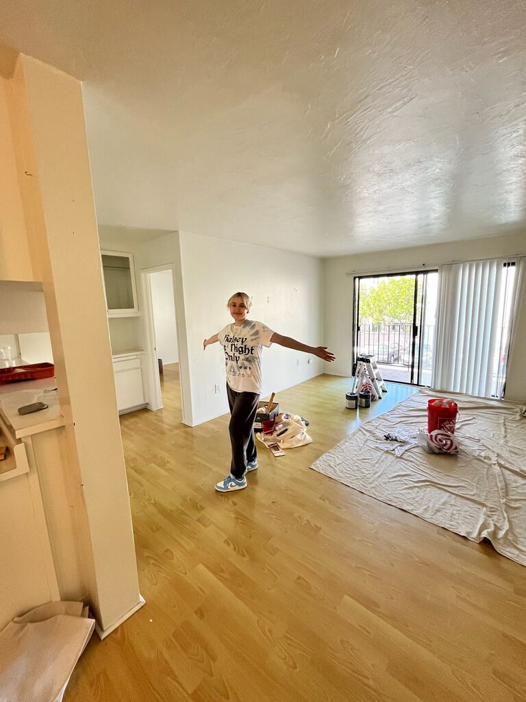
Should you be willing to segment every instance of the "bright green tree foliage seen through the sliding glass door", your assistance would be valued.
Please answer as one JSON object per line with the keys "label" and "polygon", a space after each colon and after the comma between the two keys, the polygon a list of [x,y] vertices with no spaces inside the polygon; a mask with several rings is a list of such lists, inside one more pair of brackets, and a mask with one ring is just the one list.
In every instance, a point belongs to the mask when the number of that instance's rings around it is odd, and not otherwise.
{"label": "bright green tree foliage seen through the sliding glass door", "polygon": [[372,324],[409,324],[413,319],[414,278],[382,278],[360,291],[360,317]]}

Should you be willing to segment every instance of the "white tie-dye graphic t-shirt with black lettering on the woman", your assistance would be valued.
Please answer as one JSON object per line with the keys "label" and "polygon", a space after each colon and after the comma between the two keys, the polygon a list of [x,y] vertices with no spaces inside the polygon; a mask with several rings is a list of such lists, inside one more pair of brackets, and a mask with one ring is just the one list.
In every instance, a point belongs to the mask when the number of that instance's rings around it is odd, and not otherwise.
{"label": "white tie-dye graphic t-shirt with black lettering on the woman", "polygon": [[274,331],[261,322],[245,319],[242,326],[228,324],[217,336],[224,347],[227,383],[236,392],[261,393],[262,346],[271,345]]}

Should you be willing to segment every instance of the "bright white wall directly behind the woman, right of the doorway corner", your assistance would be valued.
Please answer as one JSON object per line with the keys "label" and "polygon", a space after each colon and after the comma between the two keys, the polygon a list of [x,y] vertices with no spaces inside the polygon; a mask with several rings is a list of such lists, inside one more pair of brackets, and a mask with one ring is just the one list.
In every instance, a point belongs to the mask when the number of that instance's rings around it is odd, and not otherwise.
{"label": "bright white wall directly behind the woman, right of the doorway corner", "polygon": [[[184,307],[194,423],[228,411],[224,353],[203,351],[203,338],[231,322],[227,300],[236,291],[252,296],[250,319],[310,345],[324,345],[321,260],[180,232]],[[323,373],[323,362],[277,345],[263,351],[263,395]],[[215,385],[220,392],[215,393]],[[279,396],[278,396],[279,399]],[[284,407],[301,413],[299,406]]]}

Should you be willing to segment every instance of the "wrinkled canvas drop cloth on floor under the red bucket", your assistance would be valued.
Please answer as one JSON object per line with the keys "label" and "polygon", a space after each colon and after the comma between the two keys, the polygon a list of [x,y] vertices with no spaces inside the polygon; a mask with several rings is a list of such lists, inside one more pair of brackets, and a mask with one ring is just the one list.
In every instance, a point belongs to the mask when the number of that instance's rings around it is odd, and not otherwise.
{"label": "wrinkled canvas drop cloth on floor under the red bucket", "polygon": [[[397,457],[377,445],[387,432],[426,428],[427,401],[437,396],[459,404],[457,456],[415,446]],[[526,566],[526,418],[519,404],[421,390],[361,425],[311,468],[471,541],[487,538]]]}

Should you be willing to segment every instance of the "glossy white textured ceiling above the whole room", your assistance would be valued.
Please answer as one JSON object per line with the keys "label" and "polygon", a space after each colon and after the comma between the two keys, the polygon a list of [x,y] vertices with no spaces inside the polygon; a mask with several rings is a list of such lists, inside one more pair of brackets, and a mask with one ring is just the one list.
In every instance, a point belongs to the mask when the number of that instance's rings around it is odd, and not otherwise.
{"label": "glossy white textured ceiling above the whole room", "polygon": [[526,0],[3,0],[84,82],[97,218],[330,256],[526,219]]}

